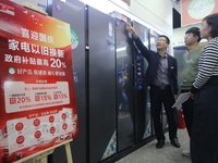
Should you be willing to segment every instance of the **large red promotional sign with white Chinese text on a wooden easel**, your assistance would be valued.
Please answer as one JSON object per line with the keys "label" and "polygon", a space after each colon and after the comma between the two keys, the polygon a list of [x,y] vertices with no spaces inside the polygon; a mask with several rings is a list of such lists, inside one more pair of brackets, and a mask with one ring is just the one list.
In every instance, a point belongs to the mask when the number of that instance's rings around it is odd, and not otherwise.
{"label": "large red promotional sign with white Chinese text on a wooden easel", "polygon": [[70,25],[0,0],[0,163],[78,135]]}

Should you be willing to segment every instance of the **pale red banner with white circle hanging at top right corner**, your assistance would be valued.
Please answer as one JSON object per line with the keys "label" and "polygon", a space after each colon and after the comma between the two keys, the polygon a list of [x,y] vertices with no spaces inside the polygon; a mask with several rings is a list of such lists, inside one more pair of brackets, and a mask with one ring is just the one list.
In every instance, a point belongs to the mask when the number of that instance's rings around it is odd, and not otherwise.
{"label": "pale red banner with white circle hanging at top right corner", "polygon": [[217,11],[217,0],[181,0],[181,26],[201,23],[205,16]]}

